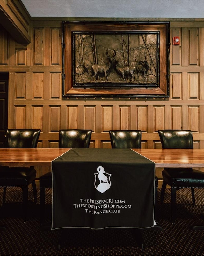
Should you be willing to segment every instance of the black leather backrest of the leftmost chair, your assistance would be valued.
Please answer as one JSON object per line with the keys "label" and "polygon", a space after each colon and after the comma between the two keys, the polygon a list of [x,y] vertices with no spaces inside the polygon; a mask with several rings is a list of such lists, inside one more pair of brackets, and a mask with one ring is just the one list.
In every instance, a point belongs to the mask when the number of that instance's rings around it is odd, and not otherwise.
{"label": "black leather backrest of the leftmost chair", "polygon": [[8,129],[6,132],[6,148],[36,148],[40,129]]}

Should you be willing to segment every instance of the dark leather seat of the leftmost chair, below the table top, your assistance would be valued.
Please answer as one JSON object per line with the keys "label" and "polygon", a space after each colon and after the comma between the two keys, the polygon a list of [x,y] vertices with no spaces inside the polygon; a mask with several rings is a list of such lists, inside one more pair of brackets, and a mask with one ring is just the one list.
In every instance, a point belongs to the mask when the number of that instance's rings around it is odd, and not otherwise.
{"label": "dark leather seat of the leftmost chair, below the table top", "polygon": [[30,167],[6,167],[0,170],[0,187],[28,186],[35,180],[36,170]]}

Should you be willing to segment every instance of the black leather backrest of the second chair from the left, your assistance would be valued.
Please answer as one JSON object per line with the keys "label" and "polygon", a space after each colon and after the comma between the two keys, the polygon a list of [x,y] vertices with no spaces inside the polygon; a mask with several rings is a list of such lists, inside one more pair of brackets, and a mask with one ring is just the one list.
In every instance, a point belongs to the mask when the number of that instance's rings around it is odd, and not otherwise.
{"label": "black leather backrest of the second chair from the left", "polygon": [[92,130],[59,131],[59,148],[89,148]]}

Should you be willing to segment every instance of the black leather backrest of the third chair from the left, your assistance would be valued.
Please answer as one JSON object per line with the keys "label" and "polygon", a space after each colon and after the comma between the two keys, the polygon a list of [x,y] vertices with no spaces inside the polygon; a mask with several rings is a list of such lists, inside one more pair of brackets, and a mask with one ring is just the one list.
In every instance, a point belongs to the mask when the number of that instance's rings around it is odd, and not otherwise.
{"label": "black leather backrest of the third chair from the left", "polygon": [[109,131],[112,148],[141,148],[141,130]]}

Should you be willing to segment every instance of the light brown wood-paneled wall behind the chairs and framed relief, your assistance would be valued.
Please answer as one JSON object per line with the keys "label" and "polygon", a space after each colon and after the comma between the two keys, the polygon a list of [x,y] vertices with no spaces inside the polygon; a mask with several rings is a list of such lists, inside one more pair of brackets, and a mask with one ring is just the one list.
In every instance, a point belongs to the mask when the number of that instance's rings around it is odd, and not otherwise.
{"label": "light brown wood-paneled wall behind the chairs and framed relief", "polygon": [[[92,129],[92,148],[111,148],[108,130],[142,130],[143,148],[161,148],[159,129],[190,129],[204,148],[204,22],[170,23],[170,98],[62,100],[61,22],[34,20],[31,43],[0,29],[0,70],[9,72],[9,128],[40,128],[38,147],[58,147],[59,129]],[[48,172],[38,168],[37,176]],[[161,170],[157,175],[161,178]]]}

